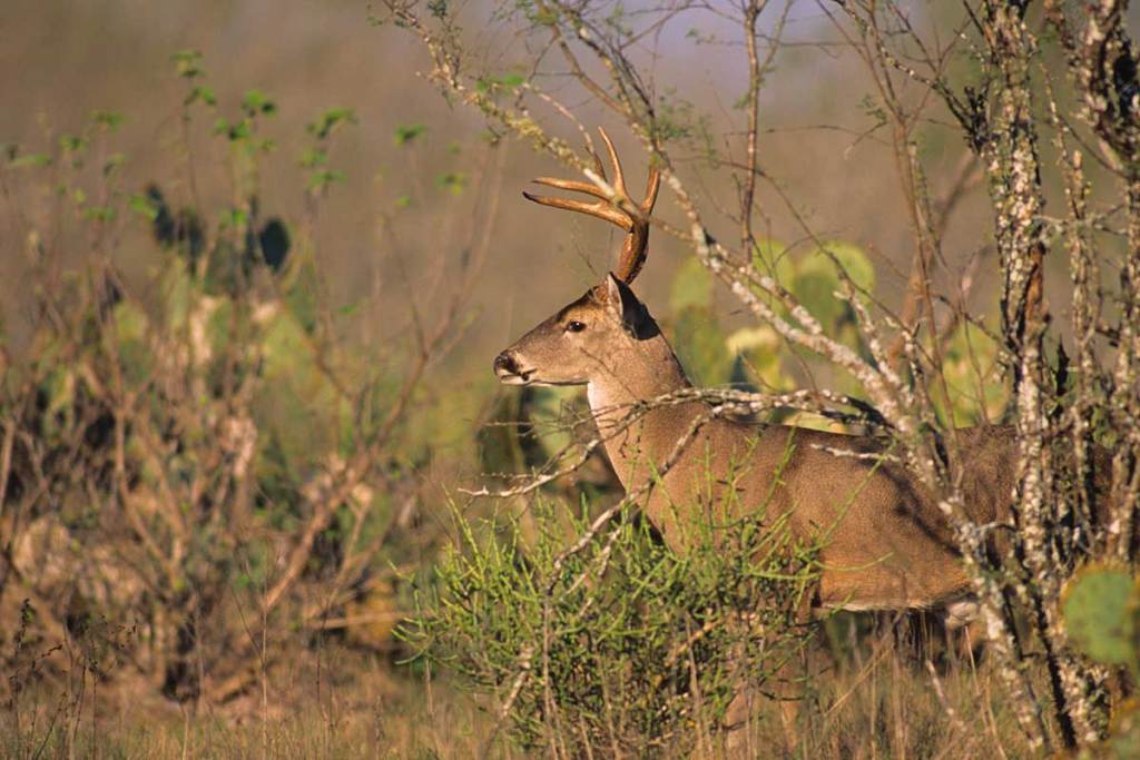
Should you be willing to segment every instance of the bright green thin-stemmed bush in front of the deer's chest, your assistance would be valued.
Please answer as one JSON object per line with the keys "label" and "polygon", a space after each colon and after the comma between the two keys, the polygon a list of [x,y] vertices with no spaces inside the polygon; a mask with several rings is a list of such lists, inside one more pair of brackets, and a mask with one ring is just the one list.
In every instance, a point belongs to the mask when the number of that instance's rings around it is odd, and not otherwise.
{"label": "bright green thin-stemmed bush in front of the deer's chest", "polygon": [[[557,733],[572,755],[684,754],[699,724],[718,730],[741,673],[763,688],[805,641],[793,618],[815,554],[783,521],[709,517],[687,526],[682,557],[626,512],[568,554],[561,509],[531,512],[528,542],[518,522],[453,509],[458,545],[402,630],[422,656],[496,695],[527,749]],[[588,524],[584,507],[572,533]]]}

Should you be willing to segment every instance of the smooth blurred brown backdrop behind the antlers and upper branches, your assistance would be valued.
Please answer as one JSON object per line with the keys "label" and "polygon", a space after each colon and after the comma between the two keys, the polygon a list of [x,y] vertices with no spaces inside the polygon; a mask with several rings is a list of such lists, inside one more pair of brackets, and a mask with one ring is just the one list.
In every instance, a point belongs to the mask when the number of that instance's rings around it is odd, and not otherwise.
{"label": "smooth blurred brown backdrop behind the antlers and upper branches", "polygon": [[[491,3],[458,5],[461,18],[480,19],[472,27],[479,30],[471,34],[472,48],[496,50],[500,58],[482,62],[488,70],[506,71],[527,59],[510,23],[486,25]],[[636,10],[637,3],[629,7]],[[427,59],[414,39],[368,18],[366,3],[340,0],[11,0],[0,22],[0,92],[7,104],[0,113],[0,136],[6,142],[42,148],[51,136],[76,131],[93,109],[121,112],[127,120],[116,145],[129,158],[125,185],[160,181],[172,193],[186,193],[185,166],[169,150],[179,139],[185,97],[171,56],[196,49],[222,113],[235,111],[242,93],[252,88],[277,101],[279,113],[267,124],[267,133],[278,147],[262,169],[262,205],[293,216],[304,204],[303,170],[298,165],[304,125],[321,109],[352,108],[359,124],[345,130],[334,149],[344,182],[321,211],[321,228],[329,234],[321,236],[319,259],[331,293],[340,303],[406,297],[408,291],[393,272],[381,214],[394,220],[401,236],[430,240],[433,251],[451,255],[458,255],[472,224],[489,224],[492,251],[474,281],[472,300],[478,321],[455,359],[466,362],[465,382],[490,390],[490,374],[480,371],[489,358],[520,329],[595,284],[619,240],[604,224],[526,203],[520,190],[528,180],[564,170],[523,145],[504,146],[508,155],[497,160],[503,166],[502,198],[492,218],[478,207],[486,195],[481,188],[456,193],[441,187],[438,180],[448,172],[475,177],[486,161],[484,125],[469,108],[449,106],[418,75]],[[857,243],[881,261],[881,295],[897,301],[913,236],[886,136],[882,130],[869,133],[878,123],[868,106],[872,85],[861,62],[838,46],[834,26],[819,8],[798,6],[789,30],[789,44],[765,82],[762,100],[764,169],[787,188],[795,211],[819,235]],[[682,14],[662,30],[653,67],[659,91],[676,90],[715,121],[718,149],[730,145],[733,128],[742,128],[743,114],[732,100],[746,87],[746,72],[736,48],[701,39],[728,40],[733,33],[715,15]],[[495,39],[499,43],[489,44]],[[604,123],[592,113],[593,105],[583,105],[576,115],[585,124]],[[397,145],[397,130],[410,125],[426,129],[410,145]],[[557,126],[555,132],[572,137],[569,125]],[[963,146],[950,130],[930,125],[927,131],[923,150],[937,197],[939,185],[951,183]],[[629,136],[614,138],[625,148],[630,173],[642,177],[644,161]],[[196,148],[205,154],[222,149],[209,137],[199,137],[199,142]],[[217,161],[202,170],[202,188],[225,197],[229,190],[222,172]],[[717,179],[710,175],[700,189],[732,199],[733,188]],[[952,267],[961,265],[984,242],[984,187],[975,187],[974,195],[978,197],[963,204],[946,237]],[[400,198],[408,196],[413,203],[398,209]],[[763,201],[771,236],[785,244],[800,240],[803,231],[784,203],[771,193]],[[675,220],[668,197],[658,213]],[[450,223],[441,223],[445,219]],[[733,231],[723,229],[725,235]],[[651,309],[657,304],[662,310],[678,248],[663,236],[656,238],[652,263],[638,287]],[[18,256],[5,259],[6,267],[18,265]],[[406,262],[413,281],[434,264],[434,256]],[[5,281],[11,283],[11,270],[6,275]],[[11,303],[10,297],[5,302]]]}

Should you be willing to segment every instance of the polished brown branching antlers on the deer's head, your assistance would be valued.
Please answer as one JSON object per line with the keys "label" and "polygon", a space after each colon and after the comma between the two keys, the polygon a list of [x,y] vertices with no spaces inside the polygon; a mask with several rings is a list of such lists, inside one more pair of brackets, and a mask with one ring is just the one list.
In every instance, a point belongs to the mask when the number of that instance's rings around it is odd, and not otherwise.
{"label": "polished brown branching antlers on the deer's head", "polygon": [[[641,203],[635,203],[626,191],[626,179],[621,173],[621,162],[618,161],[618,153],[613,149],[610,137],[601,126],[597,128],[597,131],[601,133],[602,141],[605,142],[605,149],[610,154],[610,163],[613,164],[614,175],[612,185],[614,195],[612,198],[593,182],[554,179],[551,177],[539,177],[535,181],[547,187],[556,187],[560,190],[585,193],[597,198],[597,201],[571,201],[548,195],[531,195],[527,191],[523,191],[522,195],[528,201],[540,203],[544,206],[577,211],[578,213],[597,216],[626,230],[626,242],[621,248],[621,259],[618,260],[618,269],[614,275],[628,285],[634,281],[637,272],[641,271],[642,265],[645,263],[645,246],[649,245],[649,216],[653,213],[653,205],[657,203],[657,191],[661,187],[661,173],[656,166],[650,167],[649,183],[645,187],[645,199]],[[594,158],[594,167],[598,175],[609,182],[605,177],[605,169],[602,166],[602,160],[593,150],[589,152],[589,155]],[[622,201],[626,203],[622,204]],[[627,212],[625,210],[626,205],[632,206],[636,213]]]}

